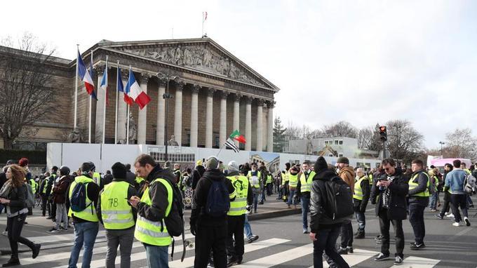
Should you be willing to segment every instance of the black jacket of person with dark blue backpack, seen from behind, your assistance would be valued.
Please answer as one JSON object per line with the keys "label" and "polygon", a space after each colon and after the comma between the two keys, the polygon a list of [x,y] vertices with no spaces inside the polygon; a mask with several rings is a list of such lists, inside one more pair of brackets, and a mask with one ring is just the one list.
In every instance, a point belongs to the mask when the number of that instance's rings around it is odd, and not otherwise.
{"label": "black jacket of person with dark blue backpack, seen from behind", "polygon": [[[223,226],[227,222],[227,215],[223,217],[211,217],[204,212],[204,208],[207,204],[207,197],[210,187],[212,186],[211,180],[224,180],[225,187],[229,190],[229,194],[235,192],[234,185],[227,180],[224,173],[218,169],[207,170],[203,173],[203,177],[197,182],[197,187],[194,192],[194,203],[192,203],[191,212],[191,225],[206,225],[206,226]],[[235,198],[234,198],[235,199]],[[231,199],[230,201],[234,201]]]}

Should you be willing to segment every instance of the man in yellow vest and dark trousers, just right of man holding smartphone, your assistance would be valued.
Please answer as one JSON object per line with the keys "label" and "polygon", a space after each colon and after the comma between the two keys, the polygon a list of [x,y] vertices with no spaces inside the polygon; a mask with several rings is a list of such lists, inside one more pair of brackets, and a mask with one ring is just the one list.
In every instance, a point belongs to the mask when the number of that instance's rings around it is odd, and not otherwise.
{"label": "man in yellow vest and dark trousers, just right of man holding smartphone", "polygon": [[424,225],[424,209],[429,204],[429,175],[424,172],[424,163],[420,159],[415,159],[411,163],[412,175],[409,184],[409,222],[414,231],[415,242],[411,243],[411,250],[425,248],[424,236],[426,226]]}

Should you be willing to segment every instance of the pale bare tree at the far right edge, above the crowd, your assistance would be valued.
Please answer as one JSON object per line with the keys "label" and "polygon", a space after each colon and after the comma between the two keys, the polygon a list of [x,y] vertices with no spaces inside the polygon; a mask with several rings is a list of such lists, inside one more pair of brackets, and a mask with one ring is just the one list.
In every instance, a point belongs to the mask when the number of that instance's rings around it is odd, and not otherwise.
{"label": "pale bare tree at the far right edge, above the crowd", "polygon": [[451,133],[445,134],[445,153],[451,158],[477,158],[477,140],[472,137],[470,128],[455,129]]}

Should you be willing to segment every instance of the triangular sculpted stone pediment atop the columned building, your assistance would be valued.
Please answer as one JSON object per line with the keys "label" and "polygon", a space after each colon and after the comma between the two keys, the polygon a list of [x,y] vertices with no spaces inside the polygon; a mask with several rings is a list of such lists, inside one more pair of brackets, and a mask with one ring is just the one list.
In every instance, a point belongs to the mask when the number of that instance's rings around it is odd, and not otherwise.
{"label": "triangular sculpted stone pediment atop the columned building", "polygon": [[104,42],[101,46],[278,91],[274,84],[208,38]]}

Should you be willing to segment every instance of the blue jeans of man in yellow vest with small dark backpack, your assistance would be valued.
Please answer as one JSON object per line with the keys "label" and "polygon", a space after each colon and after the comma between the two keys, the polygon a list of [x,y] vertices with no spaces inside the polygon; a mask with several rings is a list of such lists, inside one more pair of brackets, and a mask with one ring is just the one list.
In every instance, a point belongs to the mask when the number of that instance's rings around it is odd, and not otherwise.
{"label": "blue jeans of man in yellow vest with small dark backpack", "polygon": [[83,263],[81,264],[81,267],[90,267],[91,256],[93,256],[93,247],[95,246],[98,229],[98,222],[78,222],[74,224],[74,245],[72,248],[72,254],[69,256],[68,268],[76,268],[79,251],[83,246]]}

